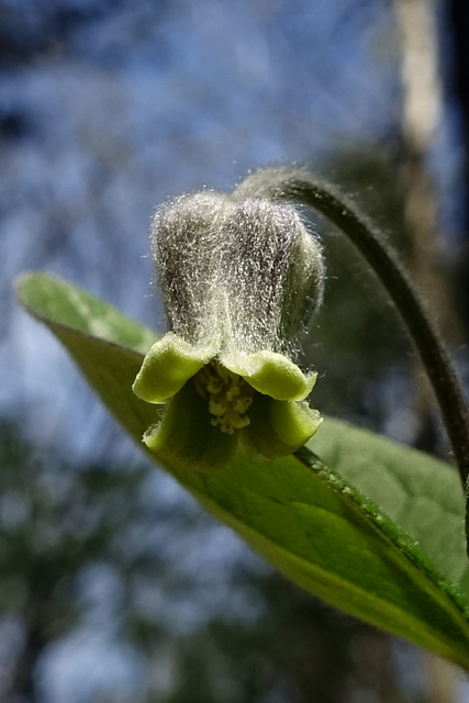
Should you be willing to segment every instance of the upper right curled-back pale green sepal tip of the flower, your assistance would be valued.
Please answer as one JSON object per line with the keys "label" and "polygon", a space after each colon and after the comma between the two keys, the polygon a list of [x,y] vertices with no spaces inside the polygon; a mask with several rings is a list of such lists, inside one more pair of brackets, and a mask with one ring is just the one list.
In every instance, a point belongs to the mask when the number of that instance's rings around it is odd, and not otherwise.
{"label": "upper right curled-back pale green sepal tip of the flower", "polygon": [[223,366],[242,376],[256,391],[276,400],[303,400],[313,390],[317,373],[304,375],[289,358],[277,352],[221,357]]}

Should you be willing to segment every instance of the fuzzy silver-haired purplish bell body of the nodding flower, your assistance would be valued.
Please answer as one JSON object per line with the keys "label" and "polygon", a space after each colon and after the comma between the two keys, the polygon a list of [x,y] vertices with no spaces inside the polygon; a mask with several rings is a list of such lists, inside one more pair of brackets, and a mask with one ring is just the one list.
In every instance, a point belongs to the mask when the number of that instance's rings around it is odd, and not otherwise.
{"label": "fuzzy silver-haired purplish bell body of the nodding flower", "polygon": [[295,355],[322,300],[324,263],[293,205],[182,196],[156,212],[152,248],[175,334],[219,354]]}

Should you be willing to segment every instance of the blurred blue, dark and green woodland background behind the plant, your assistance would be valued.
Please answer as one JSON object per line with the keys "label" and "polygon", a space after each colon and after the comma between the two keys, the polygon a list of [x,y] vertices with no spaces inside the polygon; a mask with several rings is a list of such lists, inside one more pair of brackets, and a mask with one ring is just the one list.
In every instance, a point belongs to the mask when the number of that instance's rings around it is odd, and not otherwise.
{"label": "blurred blue, dark and green woodland background behind the plant", "polygon": [[[18,308],[44,269],[163,327],[155,207],[310,166],[384,230],[467,379],[466,0],[0,0],[0,701],[462,703],[148,466]],[[448,457],[372,276],[315,215],[315,406]]]}

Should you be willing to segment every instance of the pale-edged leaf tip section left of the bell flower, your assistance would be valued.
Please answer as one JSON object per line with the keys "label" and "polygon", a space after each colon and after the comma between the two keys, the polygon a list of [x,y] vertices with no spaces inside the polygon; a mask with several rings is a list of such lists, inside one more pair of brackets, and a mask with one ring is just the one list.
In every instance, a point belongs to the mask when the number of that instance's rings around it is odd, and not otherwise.
{"label": "pale-edged leaf tip section left of the bell flower", "polygon": [[[20,302],[70,353],[114,417],[134,437],[161,412],[132,392],[142,359],[158,335],[86,291],[45,274],[18,279]],[[125,422],[123,419],[125,417]]]}

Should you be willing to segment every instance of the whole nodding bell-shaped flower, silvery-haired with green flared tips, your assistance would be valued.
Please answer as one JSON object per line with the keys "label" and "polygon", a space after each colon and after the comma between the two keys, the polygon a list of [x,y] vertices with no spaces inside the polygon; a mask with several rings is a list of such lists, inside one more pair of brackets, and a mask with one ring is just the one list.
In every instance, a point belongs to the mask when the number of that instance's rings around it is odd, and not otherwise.
{"label": "whole nodding bell-shaped flower, silvery-haired with green flared tips", "polygon": [[170,331],[133,384],[166,404],[143,440],[159,458],[222,468],[239,437],[268,458],[317,429],[316,381],[295,364],[321,302],[321,246],[293,205],[213,191],[182,196],[153,221],[152,249]]}

